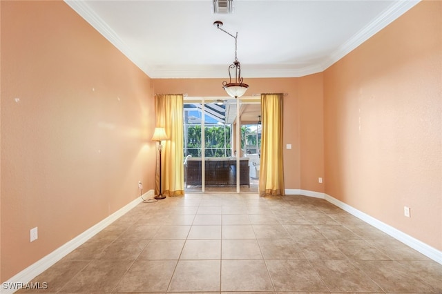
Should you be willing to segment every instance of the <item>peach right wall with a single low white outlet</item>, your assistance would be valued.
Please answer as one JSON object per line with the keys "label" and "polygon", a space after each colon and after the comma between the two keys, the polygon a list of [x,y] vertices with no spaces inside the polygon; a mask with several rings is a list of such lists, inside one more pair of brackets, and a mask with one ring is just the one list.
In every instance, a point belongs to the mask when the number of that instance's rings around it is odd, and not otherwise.
{"label": "peach right wall with a single low white outlet", "polygon": [[325,193],[439,250],[441,15],[423,1],[324,73]]}

